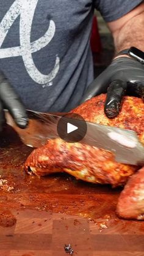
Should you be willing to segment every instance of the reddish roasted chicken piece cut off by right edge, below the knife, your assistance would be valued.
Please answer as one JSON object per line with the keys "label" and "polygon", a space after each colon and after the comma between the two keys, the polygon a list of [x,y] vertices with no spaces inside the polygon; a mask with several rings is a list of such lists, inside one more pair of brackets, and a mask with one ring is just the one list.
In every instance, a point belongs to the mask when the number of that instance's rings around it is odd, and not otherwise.
{"label": "reddish roasted chicken piece cut off by right edge, below the knife", "polygon": [[129,178],[118,199],[121,218],[144,220],[144,167]]}

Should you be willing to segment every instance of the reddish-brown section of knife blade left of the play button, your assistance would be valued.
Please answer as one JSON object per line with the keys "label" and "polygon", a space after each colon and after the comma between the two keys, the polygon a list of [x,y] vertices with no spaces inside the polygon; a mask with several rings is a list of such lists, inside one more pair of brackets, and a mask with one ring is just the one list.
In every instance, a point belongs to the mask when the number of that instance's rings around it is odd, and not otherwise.
{"label": "reddish-brown section of knife blade left of the play button", "polygon": [[22,130],[16,126],[9,112],[5,111],[7,124],[12,126],[16,133],[19,134],[24,144],[29,147],[40,147],[48,139],[59,137],[57,134],[57,122],[59,122],[60,116],[34,111],[27,111],[27,115],[29,117],[29,125]]}

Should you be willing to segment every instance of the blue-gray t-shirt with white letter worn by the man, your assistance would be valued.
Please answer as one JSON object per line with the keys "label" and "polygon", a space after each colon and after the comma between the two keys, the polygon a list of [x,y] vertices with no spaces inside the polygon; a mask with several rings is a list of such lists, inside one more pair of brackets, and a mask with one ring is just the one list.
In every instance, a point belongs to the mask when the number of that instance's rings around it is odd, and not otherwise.
{"label": "blue-gray t-shirt with white letter worn by the man", "polygon": [[117,20],[142,0],[0,0],[0,70],[27,109],[69,111],[93,80],[93,12]]}

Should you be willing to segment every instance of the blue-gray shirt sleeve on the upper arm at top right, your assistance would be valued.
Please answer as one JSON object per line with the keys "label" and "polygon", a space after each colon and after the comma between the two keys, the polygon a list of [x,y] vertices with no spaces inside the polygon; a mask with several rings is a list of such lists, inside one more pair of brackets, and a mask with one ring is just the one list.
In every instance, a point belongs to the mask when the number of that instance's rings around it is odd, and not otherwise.
{"label": "blue-gray shirt sleeve on the upper arm at top right", "polygon": [[106,22],[117,20],[130,12],[143,0],[94,0],[96,10],[99,10]]}

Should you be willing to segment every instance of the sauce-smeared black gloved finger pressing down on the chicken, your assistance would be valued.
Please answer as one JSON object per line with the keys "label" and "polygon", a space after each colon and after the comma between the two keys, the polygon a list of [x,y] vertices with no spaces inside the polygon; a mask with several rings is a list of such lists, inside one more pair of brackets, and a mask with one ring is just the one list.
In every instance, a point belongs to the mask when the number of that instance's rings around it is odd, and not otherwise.
{"label": "sauce-smeared black gloved finger pressing down on the chicken", "polygon": [[107,98],[104,105],[104,112],[110,119],[117,117],[121,110],[123,95],[126,93],[126,82],[119,79],[110,83],[107,89]]}

